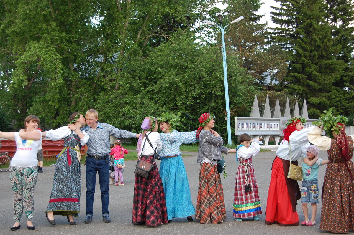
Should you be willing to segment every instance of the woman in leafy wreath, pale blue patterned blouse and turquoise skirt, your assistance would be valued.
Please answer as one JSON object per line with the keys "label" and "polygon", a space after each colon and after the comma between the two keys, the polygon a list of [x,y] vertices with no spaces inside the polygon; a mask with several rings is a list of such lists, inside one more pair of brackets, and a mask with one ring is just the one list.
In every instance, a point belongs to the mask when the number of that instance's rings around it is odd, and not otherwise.
{"label": "woman in leafy wreath, pale blue patterned blouse and turquoise skirt", "polygon": [[188,221],[192,222],[195,208],[192,204],[187,173],[179,146],[182,143],[197,142],[198,140],[195,139],[196,130],[178,132],[173,129],[178,120],[178,116],[173,114],[162,113],[158,120],[162,130],[160,133],[162,150],[159,152],[161,157],[160,176],[165,189],[167,217],[169,222],[172,222],[172,218],[183,217],[187,217]]}

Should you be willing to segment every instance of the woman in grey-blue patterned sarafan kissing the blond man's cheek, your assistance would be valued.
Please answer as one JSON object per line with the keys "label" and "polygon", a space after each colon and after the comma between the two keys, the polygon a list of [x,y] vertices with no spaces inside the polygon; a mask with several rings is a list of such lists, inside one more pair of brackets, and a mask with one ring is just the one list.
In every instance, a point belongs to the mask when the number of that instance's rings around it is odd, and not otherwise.
{"label": "woman in grey-blue patterned sarafan kissing the blond man's cheek", "polygon": [[[74,217],[79,217],[81,190],[81,146],[89,141],[90,136],[84,130],[85,118],[80,112],[69,117],[67,126],[45,132],[52,141],[64,139],[64,148],[59,153],[55,166],[53,188],[50,194],[46,217],[55,225],[54,215],[66,216],[70,225],[76,225]],[[76,147],[76,148],[75,148]]]}

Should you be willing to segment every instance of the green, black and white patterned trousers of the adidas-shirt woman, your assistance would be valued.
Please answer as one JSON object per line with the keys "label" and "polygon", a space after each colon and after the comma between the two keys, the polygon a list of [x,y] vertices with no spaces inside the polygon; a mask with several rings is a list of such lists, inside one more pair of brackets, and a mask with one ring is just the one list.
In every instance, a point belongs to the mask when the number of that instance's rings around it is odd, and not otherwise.
{"label": "green, black and white patterned trousers of the adidas-shirt woman", "polygon": [[13,219],[20,222],[23,209],[27,221],[32,221],[34,214],[34,186],[38,178],[37,166],[10,167],[10,182],[13,190]]}

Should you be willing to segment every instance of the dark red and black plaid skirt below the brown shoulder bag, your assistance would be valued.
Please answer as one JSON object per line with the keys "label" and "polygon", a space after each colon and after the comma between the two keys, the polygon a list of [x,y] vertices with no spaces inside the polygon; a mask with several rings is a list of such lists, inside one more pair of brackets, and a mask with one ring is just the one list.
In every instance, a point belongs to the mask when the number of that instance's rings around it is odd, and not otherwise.
{"label": "dark red and black plaid skirt below the brown shoulder bag", "polygon": [[[142,155],[142,158],[152,163],[154,156]],[[149,178],[135,175],[133,223],[144,221],[148,226],[168,223],[164,186],[156,163],[154,163]]]}

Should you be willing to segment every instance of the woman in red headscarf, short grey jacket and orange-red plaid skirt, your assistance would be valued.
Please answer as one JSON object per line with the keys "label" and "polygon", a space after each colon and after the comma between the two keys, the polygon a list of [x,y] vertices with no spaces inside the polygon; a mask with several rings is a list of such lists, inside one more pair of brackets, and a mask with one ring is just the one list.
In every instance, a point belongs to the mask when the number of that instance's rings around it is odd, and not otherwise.
{"label": "woman in red headscarf, short grey jacket and orange-red plaid skirt", "polygon": [[202,224],[222,223],[226,219],[225,201],[216,163],[217,160],[223,159],[221,153],[235,153],[236,149],[222,146],[222,137],[212,130],[215,123],[213,114],[203,113],[199,123],[195,135],[196,139],[199,139],[197,162],[200,163],[195,219],[200,220]]}

